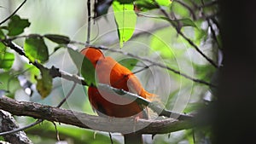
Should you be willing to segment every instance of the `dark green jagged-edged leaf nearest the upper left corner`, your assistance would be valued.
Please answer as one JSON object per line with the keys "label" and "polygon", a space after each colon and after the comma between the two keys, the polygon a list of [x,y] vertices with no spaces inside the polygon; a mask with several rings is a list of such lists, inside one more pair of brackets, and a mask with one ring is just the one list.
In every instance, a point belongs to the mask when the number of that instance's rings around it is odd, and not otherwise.
{"label": "dark green jagged-edged leaf nearest the upper left corner", "polygon": [[17,36],[24,32],[24,29],[28,26],[30,26],[30,22],[27,19],[20,19],[19,15],[14,15],[10,18],[8,23],[8,35]]}

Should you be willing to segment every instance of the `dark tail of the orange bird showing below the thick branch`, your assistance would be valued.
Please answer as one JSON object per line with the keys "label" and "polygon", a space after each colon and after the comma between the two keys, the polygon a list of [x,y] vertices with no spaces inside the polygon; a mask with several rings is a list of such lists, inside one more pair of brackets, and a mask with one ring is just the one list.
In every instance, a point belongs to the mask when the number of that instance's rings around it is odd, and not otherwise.
{"label": "dark tail of the orange bird showing below the thick branch", "polygon": [[141,134],[125,134],[125,144],[143,144],[143,135]]}

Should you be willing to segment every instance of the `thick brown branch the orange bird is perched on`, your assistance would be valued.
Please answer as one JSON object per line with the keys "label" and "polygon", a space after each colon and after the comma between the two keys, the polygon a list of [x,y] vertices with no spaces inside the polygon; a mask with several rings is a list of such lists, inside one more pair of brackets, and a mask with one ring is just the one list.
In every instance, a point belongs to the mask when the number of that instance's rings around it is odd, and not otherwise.
{"label": "thick brown branch the orange bird is perched on", "polygon": [[29,116],[51,122],[71,124],[85,129],[123,134],[129,130],[140,134],[166,134],[177,130],[191,129],[195,126],[192,119],[181,121],[173,118],[163,120],[138,119],[135,122],[134,118],[102,118],[34,102],[15,101],[6,96],[0,98],[0,109],[17,116]]}

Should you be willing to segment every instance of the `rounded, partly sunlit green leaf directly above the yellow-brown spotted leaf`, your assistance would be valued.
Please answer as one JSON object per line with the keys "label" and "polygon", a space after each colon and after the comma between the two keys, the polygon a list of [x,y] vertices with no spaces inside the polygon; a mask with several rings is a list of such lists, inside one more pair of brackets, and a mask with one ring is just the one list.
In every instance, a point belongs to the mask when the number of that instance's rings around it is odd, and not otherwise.
{"label": "rounded, partly sunlit green leaf directly above the yellow-brown spotted leaf", "polygon": [[34,35],[32,37],[26,38],[24,49],[26,56],[32,62],[38,60],[38,62],[44,63],[49,59],[49,52],[46,44],[44,43],[43,37]]}

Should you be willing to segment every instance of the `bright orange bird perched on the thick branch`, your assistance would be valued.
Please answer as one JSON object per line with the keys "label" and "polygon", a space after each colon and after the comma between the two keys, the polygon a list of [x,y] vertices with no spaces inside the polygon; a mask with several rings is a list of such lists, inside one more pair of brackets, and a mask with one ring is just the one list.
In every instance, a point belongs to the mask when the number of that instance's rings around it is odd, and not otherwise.
{"label": "bright orange bird perched on the thick branch", "polygon": [[[146,99],[154,96],[154,94],[150,94],[143,89],[138,78],[129,69],[120,65],[111,57],[105,57],[100,49],[84,48],[81,50],[81,54],[89,59],[95,67],[96,78],[99,83],[109,84],[117,89],[124,89]],[[100,116],[148,118],[145,107],[137,104],[136,101],[121,97],[115,92],[89,87],[88,95],[90,104]],[[142,135],[134,134],[125,135],[125,141],[125,143],[143,143]]]}

